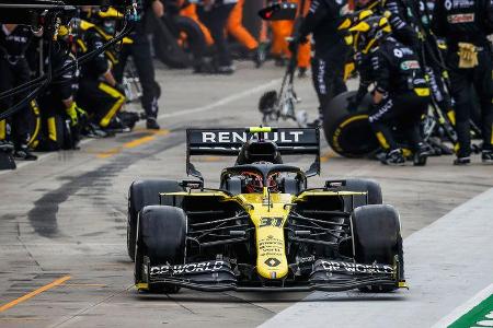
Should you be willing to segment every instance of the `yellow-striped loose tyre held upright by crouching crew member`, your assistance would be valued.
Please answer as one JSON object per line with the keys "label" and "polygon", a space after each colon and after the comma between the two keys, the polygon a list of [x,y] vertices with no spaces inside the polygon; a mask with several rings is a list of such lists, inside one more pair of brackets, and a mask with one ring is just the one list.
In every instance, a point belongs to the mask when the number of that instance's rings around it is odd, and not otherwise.
{"label": "yellow-striped loose tyre held upright by crouching crew member", "polygon": [[334,152],[345,157],[363,157],[379,149],[368,122],[369,96],[356,110],[347,110],[347,98],[355,93],[337,95],[323,110],[325,139]]}

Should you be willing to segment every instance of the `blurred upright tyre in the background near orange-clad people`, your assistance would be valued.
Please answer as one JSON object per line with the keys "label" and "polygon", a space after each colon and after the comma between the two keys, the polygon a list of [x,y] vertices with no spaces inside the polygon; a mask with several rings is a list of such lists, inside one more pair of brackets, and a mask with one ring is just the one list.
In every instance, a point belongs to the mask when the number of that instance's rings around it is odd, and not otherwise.
{"label": "blurred upright tyre in the background near orange-clad people", "polygon": [[185,16],[164,16],[153,35],[156,56],[172,69],[185,69],[200,59],[207,44],[200,27]]}

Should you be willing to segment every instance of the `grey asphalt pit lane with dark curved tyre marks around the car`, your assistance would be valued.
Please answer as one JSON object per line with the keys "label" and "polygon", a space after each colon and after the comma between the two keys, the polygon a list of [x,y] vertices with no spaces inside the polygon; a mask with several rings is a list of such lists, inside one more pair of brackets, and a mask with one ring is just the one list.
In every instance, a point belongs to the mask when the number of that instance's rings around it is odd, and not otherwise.
{"label": "grey asphalt pit lane with dark curved tyre marks around the car", "polygon": [[[241,63],[232,77],[160,69],[161,132],[137,128],[1,174],[0,308],[11,306],[0,309],[0,326],[252,327],[305,298],[306,293],[186,290],[177,295],[138,294],[125,246],[129,184],[185,177],[185,128],[257,125],[257,99],[265,90],[277,89],[282,74],[271,65],[255,70],[251,63]],[[299,108],[308,108],[313,118],[311,81],[297,80],[297,91],[303,99]],[[311,186],[348,176],[379,180],[385,202],[398,208],[408,236],[493,185],[491,167],[454,167],[451,160],[431,159],[426,167],[385,167],[339,157],[324,145],[322,175]],[[214,184],[230,163],[211,156],[198,166]],[[15,301],[60,278],[67,280]]]}

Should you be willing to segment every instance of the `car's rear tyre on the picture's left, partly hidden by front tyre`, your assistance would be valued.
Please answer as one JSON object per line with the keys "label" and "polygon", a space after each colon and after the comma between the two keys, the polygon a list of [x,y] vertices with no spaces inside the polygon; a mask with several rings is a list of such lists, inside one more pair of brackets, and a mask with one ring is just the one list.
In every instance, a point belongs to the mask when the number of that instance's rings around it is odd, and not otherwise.
{"label": "car's rear tyre on the picture's left, partly hidden by front tyre", "polygon": [[[135,242],[137,234],[137,218],[146,206],[159,204],[160,192],[183,191],[177,181],[154,179],[137,180],[128,189],[127,250],[131,260],[135,259]],[[162,198],[161,204],[172,204],[172,199]]]}

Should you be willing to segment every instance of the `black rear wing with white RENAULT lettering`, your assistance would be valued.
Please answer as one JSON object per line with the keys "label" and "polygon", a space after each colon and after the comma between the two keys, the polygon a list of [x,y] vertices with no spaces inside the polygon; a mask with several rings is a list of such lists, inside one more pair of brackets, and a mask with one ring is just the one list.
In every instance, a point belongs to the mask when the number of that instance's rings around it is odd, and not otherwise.
{"label": "black rear wing with white RENAULT lettering", "polygon": [[282,155],[314,155],[305,173],[307,177],[320,175],[320,130],[318,128],[234,128],[187,129],[186,174],[203,179],[191,162],[194,155],[238,156],[249,140],[270,140]]}

